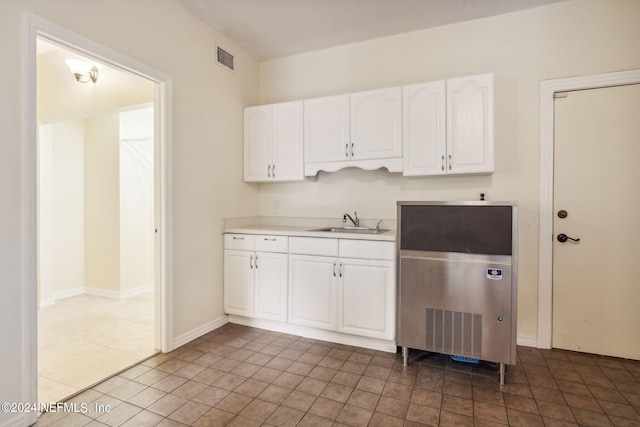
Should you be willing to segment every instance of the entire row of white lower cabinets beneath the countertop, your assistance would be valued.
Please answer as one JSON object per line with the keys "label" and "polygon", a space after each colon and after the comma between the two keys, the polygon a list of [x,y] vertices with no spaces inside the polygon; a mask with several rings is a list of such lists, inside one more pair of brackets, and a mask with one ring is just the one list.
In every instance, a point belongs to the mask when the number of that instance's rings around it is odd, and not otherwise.
{"label": "entire row of white lower cabinets beneath the countertop", "polygon": [[225,234],[225,312],[393,341],[394,259],[389,241]]}

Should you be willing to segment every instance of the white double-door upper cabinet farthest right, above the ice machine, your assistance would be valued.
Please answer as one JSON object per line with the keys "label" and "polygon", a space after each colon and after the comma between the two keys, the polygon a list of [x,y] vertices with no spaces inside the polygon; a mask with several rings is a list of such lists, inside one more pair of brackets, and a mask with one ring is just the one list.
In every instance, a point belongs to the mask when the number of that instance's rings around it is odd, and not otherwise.
{"label": "white double-door upper cabinet farthest right, above the ice machine", "polygon": [[493,74],[403,88],[404,175],[490,173]]}

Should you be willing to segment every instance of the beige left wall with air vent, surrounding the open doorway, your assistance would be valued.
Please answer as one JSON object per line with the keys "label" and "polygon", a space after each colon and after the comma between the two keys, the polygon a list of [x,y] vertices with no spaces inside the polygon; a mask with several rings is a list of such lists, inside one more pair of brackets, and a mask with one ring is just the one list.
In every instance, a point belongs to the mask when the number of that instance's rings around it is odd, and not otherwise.
{"label": "beige left wall with air vent, surrounding the open doorway", "polygon": [[[258,64],[173,0],[3,0],[0,2],[0,401],[28,396],[28,307],[23,287],[28,217],[27,139],[22,126],[22,18],[26,11],[171,77],[173,87],[173,335],[219,319],[223,217],[255,215],[258,187],[242,182],[242,108],[257,103]],[[236,55],[237,72],[215,63],[216,43]],[[35,293],[35,289],[33,289]],[[11,349],[11,351],[8,351]],[[0,425],[19,414],[0,413]]]}

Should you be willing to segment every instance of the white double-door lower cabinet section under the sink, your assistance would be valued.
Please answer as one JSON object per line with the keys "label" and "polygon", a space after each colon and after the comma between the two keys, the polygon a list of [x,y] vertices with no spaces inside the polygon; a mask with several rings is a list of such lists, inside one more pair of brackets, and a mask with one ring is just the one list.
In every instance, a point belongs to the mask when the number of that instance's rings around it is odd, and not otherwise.
{"label": "white double-door lower cabinet section under the sink", "polygon": [[[335,242],[335,253],[327,242]],[[393,339],[393,242],[291,237],[291,250],[311,255],[289,255],[290,323]]]}

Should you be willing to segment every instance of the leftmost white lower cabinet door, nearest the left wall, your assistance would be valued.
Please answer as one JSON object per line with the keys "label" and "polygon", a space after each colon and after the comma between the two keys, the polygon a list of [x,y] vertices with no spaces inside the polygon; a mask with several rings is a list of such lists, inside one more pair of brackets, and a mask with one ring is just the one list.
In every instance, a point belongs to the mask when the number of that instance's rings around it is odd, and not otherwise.
{"label": "leftmost white lower cabinet door, nearest the left wall", "polygon": [[224,251],[224,311],[228,314],[253,316],[254,253]]}

